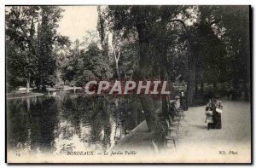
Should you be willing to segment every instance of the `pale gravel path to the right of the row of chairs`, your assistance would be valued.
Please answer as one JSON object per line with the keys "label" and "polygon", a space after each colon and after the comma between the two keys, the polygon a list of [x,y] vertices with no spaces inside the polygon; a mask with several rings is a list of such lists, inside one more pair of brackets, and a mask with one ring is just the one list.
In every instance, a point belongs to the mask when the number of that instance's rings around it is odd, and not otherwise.
{"label": "pale gravel path to the right of the row of chairs", "polygon": [[[207,130],[205,107],[185,112],[174,162],[251,162],[251,109],[245,101],[223,101],[222,129]],[[221,151],[221,152],[220,152]]]}

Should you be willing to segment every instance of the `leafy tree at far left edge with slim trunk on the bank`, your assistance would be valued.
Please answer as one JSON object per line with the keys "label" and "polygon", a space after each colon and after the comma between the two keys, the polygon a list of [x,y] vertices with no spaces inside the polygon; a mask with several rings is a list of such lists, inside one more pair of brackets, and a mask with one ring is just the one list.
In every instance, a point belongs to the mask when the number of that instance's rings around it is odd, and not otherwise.
{"label": "leafy tree at far left edge with slim trunk on the bank", "polygon": [[6,10],[6,43],[13,49],[8,47],[6,52],[7,78],[13,89],[20,83],[13,83],[12,80],[26,80],[27,93],[37,69],[35,24],[40,21],[39,10],[34,6],[8,7]]}

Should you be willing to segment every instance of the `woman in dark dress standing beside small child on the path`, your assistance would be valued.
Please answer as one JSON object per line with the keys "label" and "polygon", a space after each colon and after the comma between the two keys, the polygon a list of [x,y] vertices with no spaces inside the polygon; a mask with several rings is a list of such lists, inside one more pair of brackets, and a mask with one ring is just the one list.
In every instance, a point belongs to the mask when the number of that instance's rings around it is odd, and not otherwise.
{"label": "woman in dark dress standing beside small child on the path", "polygon": [[221,113],[223,109],[222,101],[218,100],[218,96],[214,96],[212,99],[212,109],[213,109],[213,120],[214,129],[221,129]]}

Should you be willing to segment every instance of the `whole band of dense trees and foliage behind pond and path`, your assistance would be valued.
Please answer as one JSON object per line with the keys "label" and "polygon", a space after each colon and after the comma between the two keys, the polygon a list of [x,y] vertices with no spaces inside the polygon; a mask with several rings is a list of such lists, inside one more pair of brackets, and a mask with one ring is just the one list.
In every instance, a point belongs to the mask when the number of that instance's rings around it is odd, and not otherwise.
{"label": "whole band of dense trees and foliage behind pond and path", "polygon": [[[189,104],[212,91],[250,98],[248,6],[98,7],[97,32],[74,43],[56,32],[62,11],[7,7],[8,91],[25,84],[44,91],[61,82],[84,86],[92,79],[154,78],[168,81],[169,90],[173,83],[186,83]],[[218,84],[224,84],[224,92]],[[172,94],[161,96],[163,113]],[[148,129],[154,130],[154,100],[141,96],[140,101]]]}

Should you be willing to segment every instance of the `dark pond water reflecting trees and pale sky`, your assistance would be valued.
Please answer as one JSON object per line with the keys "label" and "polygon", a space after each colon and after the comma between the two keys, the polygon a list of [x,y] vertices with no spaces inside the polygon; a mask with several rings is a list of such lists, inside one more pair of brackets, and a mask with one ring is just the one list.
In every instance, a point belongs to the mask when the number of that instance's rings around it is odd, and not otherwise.
{"label": "dark pond water reflecting trees and pale sky", "polygon": [[103,151],[143,121],[136,97],[38,96],[7,100],[8,150]]}

